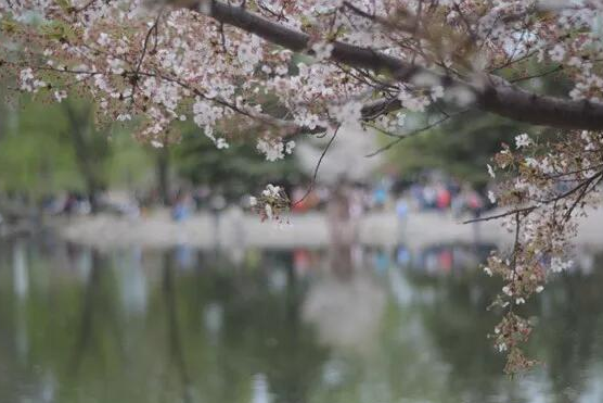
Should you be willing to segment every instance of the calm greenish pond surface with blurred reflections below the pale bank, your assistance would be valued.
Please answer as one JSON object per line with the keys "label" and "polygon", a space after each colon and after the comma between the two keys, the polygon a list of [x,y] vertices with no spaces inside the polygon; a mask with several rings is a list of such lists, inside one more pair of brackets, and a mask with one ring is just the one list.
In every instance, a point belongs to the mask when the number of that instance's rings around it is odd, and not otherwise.
{"label": "calm greenish pond surface with blurred reflections below the pale bank", "polygon": [[527,306],[544,364],[509,379],[484,253],[4,242],[0,402],[603,402],[603,259]]}

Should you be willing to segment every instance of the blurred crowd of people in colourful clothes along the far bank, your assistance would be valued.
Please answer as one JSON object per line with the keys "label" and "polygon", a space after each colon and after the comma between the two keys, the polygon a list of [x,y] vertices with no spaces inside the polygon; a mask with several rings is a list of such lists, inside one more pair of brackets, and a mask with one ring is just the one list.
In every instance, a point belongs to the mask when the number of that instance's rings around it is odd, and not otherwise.
{"label": "blurred crowd of people in colourful clothes along the far bank", "polygon": [[[485,197],[470,184],[446,176],[431,175],[413,181],[384,176],[368,182],[341,181],[336,186],[310,182],[284,184],[291,200],[293,214],[320,212],[328,209],[330,200],[344,194],[347,214],[359,217],[369,212],[395,212],[405,217],[411,212],[448,212],[453,216],[478,216],[492,207]],[[125,192],[106,192],[100,197],[101,211],[121,215],[139,216],[164,205],[169,206],[175,221],[183,221],[196,212],[218,214],[228,206],[249,207],[249,197],[228,196],[206,186],[175,189],[167,200],[162,200],[156,190],[129,196]],[[78,192],[47,198],[42,204],[46,213],[54,215],[86,215],[92,213],[89,199]]]}

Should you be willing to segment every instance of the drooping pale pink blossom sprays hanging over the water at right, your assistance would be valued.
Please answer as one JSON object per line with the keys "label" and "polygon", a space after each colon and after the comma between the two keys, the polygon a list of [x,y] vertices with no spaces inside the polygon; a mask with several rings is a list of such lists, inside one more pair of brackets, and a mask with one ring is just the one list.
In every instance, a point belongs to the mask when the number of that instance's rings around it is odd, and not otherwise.
{"label": "drooping pale pink blossom sprays hanging over the water at right", "polygon": [[493,305],[506,313],[492,337],[499,351],[509,352],[506,370],[515,373],[536,363],[522,352],[531,326],[516,310],[542,292],[552,274],[572,267],[576,218],[601,200],[603,134],[569,133],[549,141],[523,134],[488,171],[500,179],[497,199],[506,210],[498,217],[515,237],[512,251],[493,253],[485,267],[504,281]]}

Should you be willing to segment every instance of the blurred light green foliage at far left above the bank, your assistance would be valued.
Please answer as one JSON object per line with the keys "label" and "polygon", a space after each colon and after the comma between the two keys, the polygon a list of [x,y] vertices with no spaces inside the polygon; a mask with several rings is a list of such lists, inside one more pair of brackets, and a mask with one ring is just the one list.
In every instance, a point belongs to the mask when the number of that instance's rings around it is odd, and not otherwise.
{"label": "blurred light green foliage at far left above the bank", "polygon": [[[39,199],[147,178],[151,159],[127,128],[95,129],[89,104],[18,99],[0,111],[0,191]],[[67,101],[64,101],[67,102]],[[77,133],[77,136],[76,136]]]}

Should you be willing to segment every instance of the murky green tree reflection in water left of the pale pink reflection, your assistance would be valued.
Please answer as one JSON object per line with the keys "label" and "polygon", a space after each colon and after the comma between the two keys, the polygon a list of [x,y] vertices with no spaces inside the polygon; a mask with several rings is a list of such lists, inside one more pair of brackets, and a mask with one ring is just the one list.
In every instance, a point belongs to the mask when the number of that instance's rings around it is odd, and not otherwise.
{"label": "murky green tree reflection in water left of the pale pink reflection", "polygon": [[[121,315],[123,276],[114,274],[128,260],[94,252],[81,284],[73,270],[53,267],[56,262],[48,256],[34,257],[35,280],[25,312],[31,336],[28,369],[11,374],[10,382],[0,380],[0,401],[23,393],[17,391],[23,385],[39,383],[40,368],[59,385],[57,401],[67,403],[175,402],[196,394],[216,403],[248,403],[252,378],[258,373],[267,375],[271,392],[303,401],[318,382],[325,351],[299,318],[303,281],[291,270],[287,287],[269,286],[270,275],[281,269],[273,266],[291,266],[288,253],[268,262],[270,268],[242,269],[224,260],[201,259],[203,267],[190,272],[178,270],[163,253],[149,254],[159,262],[154,266],[159,277],[146,274],[151,287],[145,317]],[[47,272],[52,272],[49,286],[39,277]],[[5,284],[0,281],[0,287]],[[14,323],[14,298],[0,292],[1,324]],[[201,313],[215,305],[223,312],[223,326],[210,335]],[[0,327],[0,356],[7,358],[2,364],[17,368],[12,348],[2,344],[13,333],[13,328]],[[163,368],[171,370],[166,375]]]}

